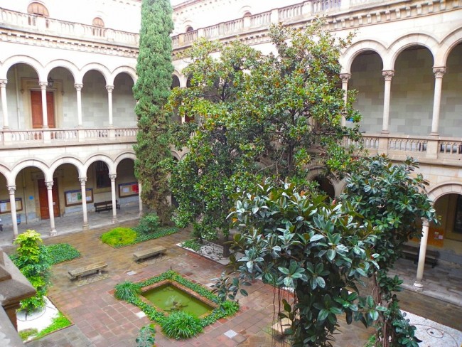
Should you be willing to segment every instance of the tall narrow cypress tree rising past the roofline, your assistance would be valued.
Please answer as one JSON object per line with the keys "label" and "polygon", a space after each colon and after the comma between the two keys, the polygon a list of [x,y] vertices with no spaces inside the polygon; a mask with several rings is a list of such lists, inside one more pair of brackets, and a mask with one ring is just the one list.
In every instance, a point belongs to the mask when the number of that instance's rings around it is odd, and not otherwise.
{"label": "tall narrow cypress tree rising past the roofline", "polygon": [[139,127],[134,146],[135,174],[141,182],[144,203],[156,210],[163,223],[169,217],[167,173],[161,161],[171,156],[167,134],[171,114],[163,107],[170,95],[173,73],[171,31],[170,0],[143,0],[136,65],[138,80],[133,87]]}

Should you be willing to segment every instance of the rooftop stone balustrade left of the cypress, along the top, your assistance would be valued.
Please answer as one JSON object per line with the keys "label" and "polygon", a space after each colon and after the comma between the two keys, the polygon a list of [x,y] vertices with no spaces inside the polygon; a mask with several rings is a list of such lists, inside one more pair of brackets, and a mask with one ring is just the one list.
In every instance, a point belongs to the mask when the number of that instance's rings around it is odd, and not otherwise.
{"label": "rooftop stone balustrade left of the cypress, along the top", "polygon": [[43,32],[59,37],[69,38],[95,38],[114,43],[124,43],[136,46],[139,43],[138,33],[129,33],[111,28],[89,26],[82,23],[61,21],[60,19],[46,18],[34,14],[11,11],[0,8],[0,22],[11,28],[31,29],[34,32]]}

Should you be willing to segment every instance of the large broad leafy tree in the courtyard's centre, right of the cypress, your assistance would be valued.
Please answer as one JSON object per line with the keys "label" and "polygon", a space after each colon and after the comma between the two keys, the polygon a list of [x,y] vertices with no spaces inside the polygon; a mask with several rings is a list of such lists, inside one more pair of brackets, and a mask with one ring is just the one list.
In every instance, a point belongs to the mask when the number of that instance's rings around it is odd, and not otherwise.
{"label": "large broad leafy tree in the courtyard's centre, right of the cypress", "polygon": [[338,78],[348,40],[331,36],[322,21],[303,31],[272,26],[269,36],[276,55],[240,41],[198,40],[183,70],[191,86],[172,91],[171,110],[195,119],[172,129],[176,148],[190,150],[169,166],[179,203],[175,221],[193,224],[199,239],[214,239],[218,231],[226,236],[232,193],[252,190],[263,176],[306,183],[313,160],[333,171],[353,164],[353,149],[343,140],[358,140],[360,133],[342,127],[341,119],[360,117],[351,107],[353,95],[345,105]]}

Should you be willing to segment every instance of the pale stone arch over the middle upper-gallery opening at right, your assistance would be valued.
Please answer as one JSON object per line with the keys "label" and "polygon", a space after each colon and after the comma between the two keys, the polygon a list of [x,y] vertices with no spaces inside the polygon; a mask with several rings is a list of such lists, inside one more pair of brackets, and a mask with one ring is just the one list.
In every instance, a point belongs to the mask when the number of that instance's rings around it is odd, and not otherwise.
{"label": "pale stone arch over the middle upper-gallery opening at right", "polygon": [[427,48],[433,61],[435,62],[436,53],[438,52],[439,43],[436,39],[427,33],[413,33],[402,38],[398,38],[388,48],[390,50],[390,61],[387,61],[390,65],[384,65],[383,70],[394,70],[394,63],[396,62],[400,53],[403,50],[412,46],[423,46]]}

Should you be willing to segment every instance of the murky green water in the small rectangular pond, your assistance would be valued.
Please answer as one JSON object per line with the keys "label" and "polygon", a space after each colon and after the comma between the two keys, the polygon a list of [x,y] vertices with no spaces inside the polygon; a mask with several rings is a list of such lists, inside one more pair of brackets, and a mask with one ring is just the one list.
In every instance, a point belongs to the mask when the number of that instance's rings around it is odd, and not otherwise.
{"label": "murky green water in the small rectangular pond", "polygon": [[167,312],[185,311],[195,317],[200,317],[213,311],[212,306],[205,304],[205,302],[196,299],[191,294],[172,284],[163,284],[154,289],[149,289],[141,295],[151,301],[154,306]]}

